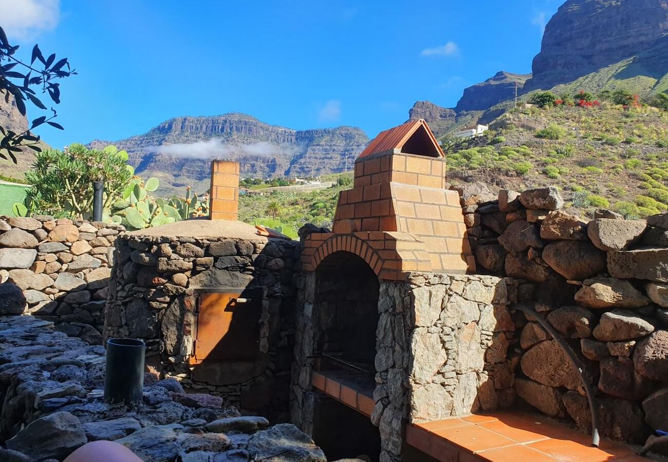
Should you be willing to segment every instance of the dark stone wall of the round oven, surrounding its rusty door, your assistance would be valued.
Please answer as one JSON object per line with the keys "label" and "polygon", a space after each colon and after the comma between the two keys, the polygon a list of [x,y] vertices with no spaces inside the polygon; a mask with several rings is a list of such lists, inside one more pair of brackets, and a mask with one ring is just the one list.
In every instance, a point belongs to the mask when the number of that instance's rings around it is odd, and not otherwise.
{"label": "dark stone wall of the round oven, surrounding its rusty door", "polygon": [[[226,405],[288,421],[299,243],[124,234],[116,241],[105,335],[143,338],[147,364]],[[191,364],[198,291],[257,286],[263,293],[255,361]]]}

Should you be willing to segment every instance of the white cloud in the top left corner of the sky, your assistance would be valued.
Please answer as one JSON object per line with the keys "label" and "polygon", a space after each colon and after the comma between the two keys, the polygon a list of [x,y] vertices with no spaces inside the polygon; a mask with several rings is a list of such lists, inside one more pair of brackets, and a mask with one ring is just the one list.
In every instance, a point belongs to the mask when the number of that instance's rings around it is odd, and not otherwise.
{"label": "white cloud in the top left corner of the sky", "polygon": [[2,27],[8,37],[27,41],[58,25],[60,0],[0,0]]}

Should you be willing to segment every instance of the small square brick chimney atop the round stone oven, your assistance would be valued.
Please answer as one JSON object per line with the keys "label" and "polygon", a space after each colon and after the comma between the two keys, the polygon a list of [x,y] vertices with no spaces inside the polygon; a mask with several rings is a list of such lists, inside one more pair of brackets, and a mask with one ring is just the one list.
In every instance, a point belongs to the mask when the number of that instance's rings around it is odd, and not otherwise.
{"label": "small square brick chimney atop the round stone oven", "polygon": [[239,163],[211,162],[209,220],[236,221],[239,208]]}

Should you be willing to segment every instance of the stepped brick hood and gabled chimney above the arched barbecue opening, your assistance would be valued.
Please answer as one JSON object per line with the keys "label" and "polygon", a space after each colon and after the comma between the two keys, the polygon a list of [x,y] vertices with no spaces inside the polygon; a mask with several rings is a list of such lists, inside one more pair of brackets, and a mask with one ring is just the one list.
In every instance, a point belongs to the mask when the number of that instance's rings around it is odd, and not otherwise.
{"label": "stepped brick hood and gabled chimney above the arched barbecue opening", "polygon": [[332,232],[307,240],[303,268],[345,251],[381,279],[473,272],[459,196],[444,188],[445,175],[445,156],[424,120],[381,132],[355,161],[354,187],[339,195]]}

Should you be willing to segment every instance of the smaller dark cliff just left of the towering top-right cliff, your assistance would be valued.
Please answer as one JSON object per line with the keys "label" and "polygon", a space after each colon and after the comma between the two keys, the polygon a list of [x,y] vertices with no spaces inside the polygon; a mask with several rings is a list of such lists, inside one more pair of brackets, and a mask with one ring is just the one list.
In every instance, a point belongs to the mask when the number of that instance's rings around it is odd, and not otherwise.
{"label": "smaller dark cliff just left of the towering top-right cliff", "polygon": [[514,97],[515,86],[518,91],[524,87],[524,82],[531,74],[514,74],[500,71],[484,82],[476,83],[464,89],[464,95],[459,100],[455,111],[484,111],[493,105]]}

